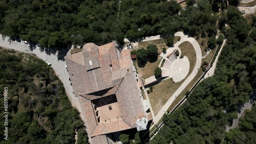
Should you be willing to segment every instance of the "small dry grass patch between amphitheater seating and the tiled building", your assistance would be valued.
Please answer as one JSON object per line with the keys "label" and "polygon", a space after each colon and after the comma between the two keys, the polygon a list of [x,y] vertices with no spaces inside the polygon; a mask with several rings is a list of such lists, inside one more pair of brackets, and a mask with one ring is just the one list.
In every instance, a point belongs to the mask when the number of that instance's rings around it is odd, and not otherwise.
{"label": "small dry grass patch between amphitheater seating and the tiled building", "polygon": [[161,59],[162,57],[158,55],[158,59],[156,62],[147,62],[144,67],[137,67],[137,70],[141,74],[142,78],[146,79],[154,76],[154,70],[156,67],[158,67]]}

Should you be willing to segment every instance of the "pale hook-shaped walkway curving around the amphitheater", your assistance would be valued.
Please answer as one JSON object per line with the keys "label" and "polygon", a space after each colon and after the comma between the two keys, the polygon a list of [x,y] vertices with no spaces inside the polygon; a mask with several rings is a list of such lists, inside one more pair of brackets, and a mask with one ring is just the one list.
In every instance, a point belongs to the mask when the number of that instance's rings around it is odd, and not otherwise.
{"label": "pale hook-shaped walkway curving around the amphitheater", "polygon": [[[174,46],[178,46],[179,44],[181,44],[184,41],[188,41],[193,45],[193,47],[196,51],[197,61],[196,61],[196,65],[195,65],[192,73],[181,84],[181,86],[173,93],[172,97],[169,98],[169,100],[164,104],[164,106],[160,109],[160,111],[157,113],[157,115],[155,115],[155,118],[153,119],[153,122],[155,124],[158,123],[160,118],[166,113],[169,106],[176,99],[176,96],[178,96],[182,92],[182,90],[195,78],[195,76],[198,73],[198,67],[201,66],[201,62],[202,62],[202,52],[201,52],[201,49],[200,49],[200,45],[198,44],[198,42],[193,37],[188,37],[187,35],[184,35],[183,32],[177,32],[177,33],[175,33],[175,36],[180,36],[181,39],[180,39],[180,41],[175,43]],[[168,51],[168,49],[167,49],[167,51]]]}

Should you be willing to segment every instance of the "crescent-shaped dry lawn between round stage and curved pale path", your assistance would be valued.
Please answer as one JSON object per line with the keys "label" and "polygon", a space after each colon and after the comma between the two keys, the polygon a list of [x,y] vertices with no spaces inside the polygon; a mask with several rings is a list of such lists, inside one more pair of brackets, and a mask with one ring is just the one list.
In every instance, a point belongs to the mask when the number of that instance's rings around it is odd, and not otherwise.
{"label": "crescent-shaped dry lawn between round stage and curved pale path", "polygon": [[190,74],[196,65],[196,61],[197,61],[196,51],[195,51],[193,45],[188,41],[182,42],[178,47],[181,50],[181,54],[186,56],[189,60],[188,74]]}

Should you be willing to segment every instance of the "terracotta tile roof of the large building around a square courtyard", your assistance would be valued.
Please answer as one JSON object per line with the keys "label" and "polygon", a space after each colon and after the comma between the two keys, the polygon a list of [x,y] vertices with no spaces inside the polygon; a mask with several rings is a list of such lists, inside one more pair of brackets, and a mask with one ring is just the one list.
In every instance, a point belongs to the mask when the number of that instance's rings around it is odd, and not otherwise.
{"label": "terracotta tile roof of the large building around a square courtyard", "polygon": [[[67,56],[65,59],[73,90],[76,95],[80,95],[89,135],[96,136],[135,128],[137,119],[145,117],[140,89],[132,70],[130,51],[120,53],[115,42],[102,46],[87,43],[83,46],[82,52]],[[98,123],[96,110],[102,109],[103,105],[97,106],[99,108],[96,109],[93,102],[106,99],[110,95],[115,95],[115,103],[118,105],[114,106],[114,102],[108,102],[108,105],[112,104],[116,113],[120,112],[121,117],[119,115],[119,118],[112,118],[111,122]],[[114,113],[112,116],[116,116]],[[105,115],[105,118],[108,117]],[[104,136],[94,139],[102,137]]]}

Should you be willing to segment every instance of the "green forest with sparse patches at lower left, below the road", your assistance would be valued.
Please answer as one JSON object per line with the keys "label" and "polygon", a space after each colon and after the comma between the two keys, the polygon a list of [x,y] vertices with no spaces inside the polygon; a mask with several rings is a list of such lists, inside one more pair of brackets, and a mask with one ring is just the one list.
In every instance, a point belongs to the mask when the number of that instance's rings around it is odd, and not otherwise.
{"label": "green forest with sparse patches at lower left, below the road", "polygon": [[[8,126],[0,126],[0,143],[75,143],[75,132],[78,143],[88,143],[79,112],[50,66],[32,55],[1,48],[0,69],[0,93],[8,87],[9,112]],[[0,109],[5,122],[4,97]]]}

